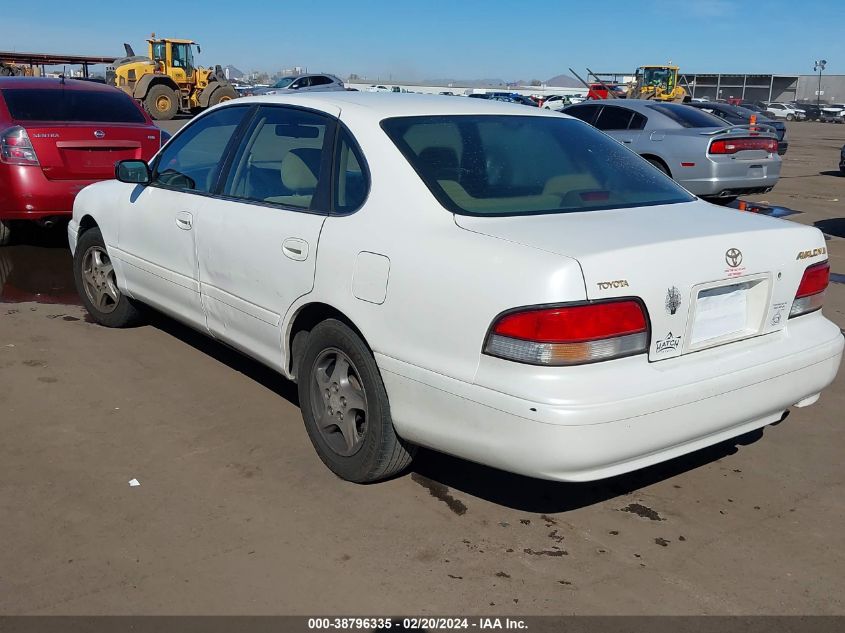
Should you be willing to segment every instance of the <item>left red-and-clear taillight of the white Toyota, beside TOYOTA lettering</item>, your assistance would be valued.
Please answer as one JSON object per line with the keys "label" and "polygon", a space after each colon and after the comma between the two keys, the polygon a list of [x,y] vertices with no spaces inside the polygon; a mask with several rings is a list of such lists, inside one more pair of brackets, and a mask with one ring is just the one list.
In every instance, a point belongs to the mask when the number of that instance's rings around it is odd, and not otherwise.
{"label": "left red-and-clear taillight of the white Toyota, beside TOYOTA lettering", "polygon": [[484,352],[532,365],[580,365],[648,349],[648,319],[630,299],[507,312]]}

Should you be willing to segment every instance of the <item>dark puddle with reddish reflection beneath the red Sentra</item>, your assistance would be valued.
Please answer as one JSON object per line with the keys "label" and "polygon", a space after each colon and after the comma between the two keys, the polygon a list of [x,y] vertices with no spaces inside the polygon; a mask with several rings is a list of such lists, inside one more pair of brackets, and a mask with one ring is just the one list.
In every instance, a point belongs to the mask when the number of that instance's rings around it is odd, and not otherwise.
{"label": "dark puddle with reddish reflection beneath the red Sentra", "polygon": [[65,246],[0,247],[0,303],[81,305]]}

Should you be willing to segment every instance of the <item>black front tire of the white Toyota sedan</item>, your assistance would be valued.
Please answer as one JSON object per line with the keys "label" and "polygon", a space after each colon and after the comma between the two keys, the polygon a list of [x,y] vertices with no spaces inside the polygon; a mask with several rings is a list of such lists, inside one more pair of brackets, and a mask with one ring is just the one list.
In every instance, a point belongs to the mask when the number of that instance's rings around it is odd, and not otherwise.
{"label": "black front tire of the white Toyota sedan", "polygon": [[98,228],[89,229],[79,237],[76,252],[73,255],[73,279],[76,282],[76,291],[82,299],[82,305],[97,323],[106,327],[127,327],[137,323],[141,313],[132,299],[120,292],[113,268],[110,276],[107,273],[103,273],[102,276],[99,273],[95,275],[99,287],[109,286],[109,291],[104,292],[109,296],[104,301],[99,301],[96,291],[91,289],[93,281],[89,280],[92,278],[92,271],[88,263],[95,251],[109,266],[108,251]]}

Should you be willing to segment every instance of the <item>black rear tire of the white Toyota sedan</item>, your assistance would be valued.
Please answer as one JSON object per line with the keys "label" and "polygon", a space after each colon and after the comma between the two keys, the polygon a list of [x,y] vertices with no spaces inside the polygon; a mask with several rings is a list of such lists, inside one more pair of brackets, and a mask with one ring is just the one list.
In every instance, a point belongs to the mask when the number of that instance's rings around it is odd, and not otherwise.
{"label": "black rear tire of the white Toyota sedan", "polygon": [[[343,372],[347,388],[349,385],[357,387],[355,390],[363,409],[346,407],[341,394],[348,391],[344,392],[342,385],[338,391],[338,383],[334,382],[340,364],[331,365],[329,361],[327,367],[322,366],[323,359],[333,354],[348,362],[349,368]],[[411,463],[416,447],[396,435],[387,391],[376,361],[350,327],[336,319],[328,319],[314,327],[308,335],[297,376],[299,406],[308,437],[320,459],[338,477],[368,483],[391,477]],[[338,407],[337,411],[333,412],[332,404]],[[333,416],[338,415],[339,420],[343,420],[344,414],[352,417],[339,422],[335,428]],[[344,444],[347,436],[342,432],[341,424],[352,425],[357,444]]]}

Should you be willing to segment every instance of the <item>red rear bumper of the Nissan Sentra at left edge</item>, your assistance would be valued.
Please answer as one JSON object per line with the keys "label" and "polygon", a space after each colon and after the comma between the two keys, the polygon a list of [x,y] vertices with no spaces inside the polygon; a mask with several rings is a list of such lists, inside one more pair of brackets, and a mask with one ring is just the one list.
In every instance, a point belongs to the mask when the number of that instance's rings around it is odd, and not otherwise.
{"label": "red rear bumper of the Nissan Sentra at left edge", "polygon": [[69,216],[76,194],[94,180],[49,180],[37,166],[0,166],[0,220]]}

